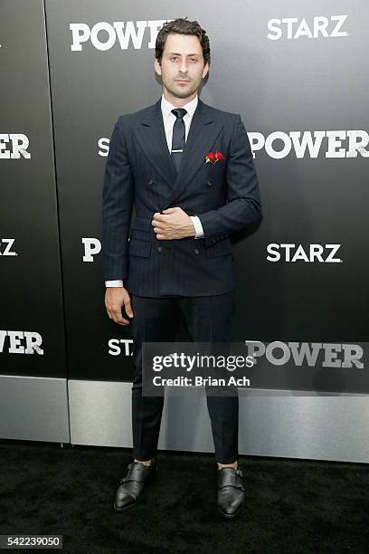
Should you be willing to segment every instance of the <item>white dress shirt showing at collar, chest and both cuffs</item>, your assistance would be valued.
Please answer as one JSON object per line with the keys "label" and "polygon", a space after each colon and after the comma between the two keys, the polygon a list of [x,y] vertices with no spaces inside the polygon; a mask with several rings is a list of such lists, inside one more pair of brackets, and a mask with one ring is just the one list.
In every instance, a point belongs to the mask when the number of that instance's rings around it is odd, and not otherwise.
{"label": "white dress shirt showing at collar, chest and both cuffs", "polygon": [[[185,123],[185,140],[187,141],[188,133],[191,126],[191,121],[194,116],[194,110],[196,110],[197,103],[199,101],[199,97],[194,97],[194,100],[191,100],[187,102],[184,106],[181,106],[181,108],[184,108],[187,110],[187,113],[184,116],[184,123]],[[161,100],[161,110],[163,115],[163,123],[164,123],[164,129],[166,130],[166,143],[168,145],[169,154],[172,153],[172,137],[173,137],[173,126],[175,124],[175,114],[172,113],[172,110],[175,109],[175,106],[168,102],[164,98],[164,94],[162,94],[162,100]],[[203,238],[203,225],[201,224],[200,219],[196,215],[190,215],[192,222],[194,224],[194,231],[195,235],[194,238]],[[107,287],[122,287],[123,281],[121,279],[116,279],[114,281],[106,281],[105,282]]]}

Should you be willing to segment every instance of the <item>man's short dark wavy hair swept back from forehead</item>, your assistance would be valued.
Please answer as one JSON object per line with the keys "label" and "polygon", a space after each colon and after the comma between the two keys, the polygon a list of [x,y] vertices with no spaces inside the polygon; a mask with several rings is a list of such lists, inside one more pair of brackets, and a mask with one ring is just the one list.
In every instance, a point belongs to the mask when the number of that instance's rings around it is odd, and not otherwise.
{"label": "man's short dark wavy hair swept back from forehead", "polygon": [[174,21],[166,22],[157,33],[155,57],[160,63],[166,46],[166,37],[169,33],[194,34],[194,36],[197,36],[203,48],[203,63],[208,62],[210,64],[210,43],[206,31],[197,21],[188,21],[186,17],[178,17]]}

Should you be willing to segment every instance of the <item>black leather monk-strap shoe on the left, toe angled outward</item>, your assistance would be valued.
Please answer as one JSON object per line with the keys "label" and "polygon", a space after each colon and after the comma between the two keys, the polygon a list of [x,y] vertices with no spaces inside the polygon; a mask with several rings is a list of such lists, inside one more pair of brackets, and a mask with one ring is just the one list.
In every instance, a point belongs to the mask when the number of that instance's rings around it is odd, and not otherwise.
{"label": "black leather monk-strap shoe on the left, toe angled outward", "polygon": [[114,510],[126,511],[137,504],[147,482],[151,481],[155,474],[156,462],[154,460],[152,465],[139,462],[129,463],[126,477],[123,477],[119,482]]}

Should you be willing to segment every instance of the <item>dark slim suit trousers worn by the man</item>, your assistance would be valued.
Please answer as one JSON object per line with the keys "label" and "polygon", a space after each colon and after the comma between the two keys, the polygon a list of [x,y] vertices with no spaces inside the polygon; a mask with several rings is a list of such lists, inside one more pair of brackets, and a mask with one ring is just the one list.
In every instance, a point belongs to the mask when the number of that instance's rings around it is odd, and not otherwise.
{"label": "dark slim suit trousers worn by the man", "polygon": [[[131,294],[134,317],[132,433],[135,459],[145,461],[157,453],[164,396],[142,395],[142,342],[174,342],[179,321],[194,342],[231,342],[234,291],[214,296],[147,298]],[[207,396],[216,461],[238,458],[238,396]]]}

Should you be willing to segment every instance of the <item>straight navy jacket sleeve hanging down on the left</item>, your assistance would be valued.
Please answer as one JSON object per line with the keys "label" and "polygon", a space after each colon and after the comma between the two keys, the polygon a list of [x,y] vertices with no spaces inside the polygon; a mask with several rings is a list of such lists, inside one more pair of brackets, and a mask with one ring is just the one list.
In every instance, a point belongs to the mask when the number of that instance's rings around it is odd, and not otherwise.
{"label": "straight navy jacket sleeve hanging down on the left", "polygon": [[102,192],[101,254],[103,279],[128,277],[128,234],[134,180],[120,116],[113,130]]}

